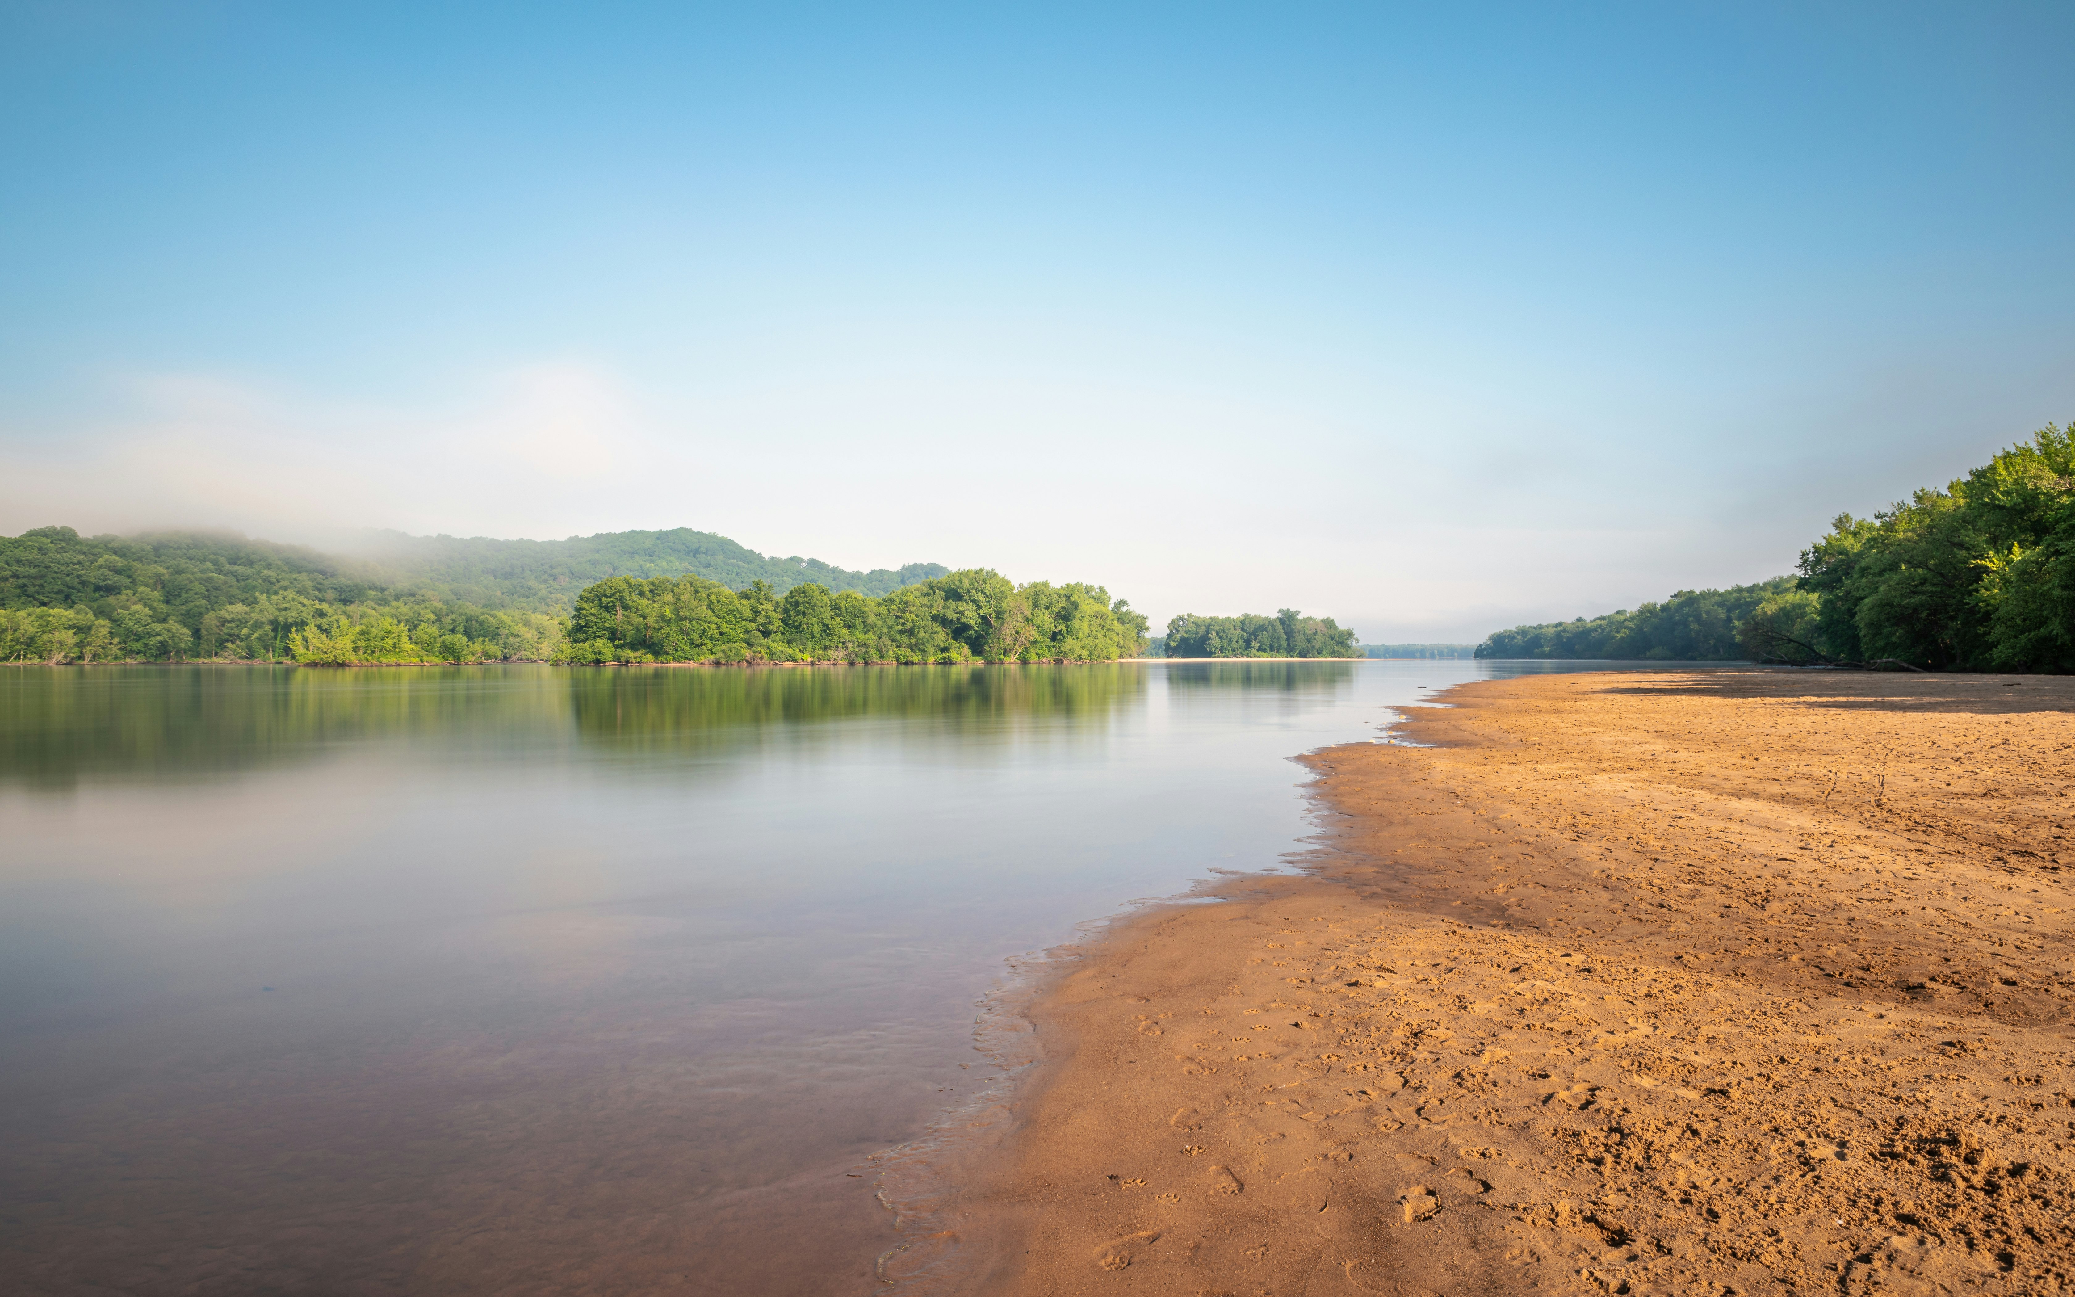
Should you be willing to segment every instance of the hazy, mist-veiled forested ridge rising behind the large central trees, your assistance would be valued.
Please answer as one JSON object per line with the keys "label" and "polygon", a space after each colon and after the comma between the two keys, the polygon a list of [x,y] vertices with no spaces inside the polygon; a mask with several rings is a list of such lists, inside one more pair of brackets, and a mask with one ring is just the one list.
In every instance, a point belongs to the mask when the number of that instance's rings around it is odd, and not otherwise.
{"label": "hazy, mist-veiled forested ridge rising behind the large central trees", "polygon": [[766,558],[726,535],[674,527],[670,531],[602,531],[569,540],[490,540],[481,535],[405,535],[369,531],[351,546],[369,577],[446,602],[483,608],[566,614],[585,585],[606,577],[706,577],[728,589],[755,581],[772,594],[820,585],[830,594],[855,589],[884,596],[903,585],[946,575],[940,562],[853,573],[820,558]]}

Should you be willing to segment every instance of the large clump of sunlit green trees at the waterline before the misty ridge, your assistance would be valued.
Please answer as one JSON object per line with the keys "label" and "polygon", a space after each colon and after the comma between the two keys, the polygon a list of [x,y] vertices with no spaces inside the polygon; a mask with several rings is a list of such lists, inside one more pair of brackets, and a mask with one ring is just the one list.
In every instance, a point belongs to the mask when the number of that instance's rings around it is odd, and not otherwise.
{"label": "large clump of sunlit green trees at the waterline before the misty ridge", "polygon": [[872,598],[764,581],[610,577],[577,596],[558,662],[1110,662],[1145,616],[1100,585],[961,571]]}

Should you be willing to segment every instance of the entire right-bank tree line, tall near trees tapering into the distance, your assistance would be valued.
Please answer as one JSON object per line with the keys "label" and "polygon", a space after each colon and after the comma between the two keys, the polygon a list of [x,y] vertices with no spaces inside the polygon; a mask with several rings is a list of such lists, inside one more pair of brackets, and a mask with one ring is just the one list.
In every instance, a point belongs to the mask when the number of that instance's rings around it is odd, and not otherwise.
{"label": "entire right-bank tree line, tall near trees tapering into the distance", "polygon": [[2075,425],[2048,423],[1870,519],[1838,515],[1797,571],[1515,627],[1477,656],[2075,670]]}

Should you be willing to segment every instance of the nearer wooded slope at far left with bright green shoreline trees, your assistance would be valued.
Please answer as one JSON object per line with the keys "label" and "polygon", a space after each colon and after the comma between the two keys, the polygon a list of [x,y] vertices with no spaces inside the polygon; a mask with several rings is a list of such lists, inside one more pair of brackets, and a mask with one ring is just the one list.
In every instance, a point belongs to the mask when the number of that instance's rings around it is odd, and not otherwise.
{"label": "nearer wooded slope at far left with bright green shoreline trees", "polygon": [[336,558],[241,535],[0,537],[0,662],[546,658],[558,618],[371,585]]}

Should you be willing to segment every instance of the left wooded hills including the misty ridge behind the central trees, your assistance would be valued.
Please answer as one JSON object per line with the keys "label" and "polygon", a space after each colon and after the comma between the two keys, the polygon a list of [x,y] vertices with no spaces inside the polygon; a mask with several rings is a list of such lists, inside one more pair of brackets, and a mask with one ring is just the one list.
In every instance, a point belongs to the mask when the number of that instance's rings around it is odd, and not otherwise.
{"label": "left wooded hills including the misty ridge behind the central trees", "polygon": [[546,660],[577,594],[612,575],[697,573],[774,594],[888,594],[950,569],[853,573],[766,558],[724,535],[610,531],[562,542],[371,533],[324,554],[232,533],[0,537],[0,662]]}

